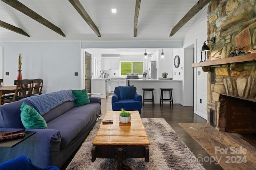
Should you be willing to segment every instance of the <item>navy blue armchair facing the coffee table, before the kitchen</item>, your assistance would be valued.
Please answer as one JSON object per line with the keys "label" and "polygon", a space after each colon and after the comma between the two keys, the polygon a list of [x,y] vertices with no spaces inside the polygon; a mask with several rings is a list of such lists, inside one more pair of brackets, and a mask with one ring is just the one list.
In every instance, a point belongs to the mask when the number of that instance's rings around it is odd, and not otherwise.
{"label": "navy blue armchair facing the coffee table, before the kitchen", "polygon": [[[120,111],[124,108],[125,110],[138,110],[141,114],[142,107],[142,96],[136,92],[136,87],[133,87],[133,94],[131,99],[122,99],[120,94],[120,86],[116,87],[112,96],[112,110]],[[124,87],[124,86],[121,86]]]}

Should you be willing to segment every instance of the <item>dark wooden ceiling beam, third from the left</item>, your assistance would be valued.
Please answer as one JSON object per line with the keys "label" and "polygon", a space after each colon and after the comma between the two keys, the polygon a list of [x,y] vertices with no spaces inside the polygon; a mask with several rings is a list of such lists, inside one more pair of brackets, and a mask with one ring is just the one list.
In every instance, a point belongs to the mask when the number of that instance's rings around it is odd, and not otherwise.
{"label": "dark wooden ceiling beam, third from the left", "polygon": [[101,37],[100,31],[98,27],[95,25],[95,23],[92,21],[82,4],[79,2],[79,0],[68,0],[72,6],[76,9],[76,11],[84,18],[84,20],[87,22],[87,24],[91,27],[91,29],[98,35],[98,37]]}

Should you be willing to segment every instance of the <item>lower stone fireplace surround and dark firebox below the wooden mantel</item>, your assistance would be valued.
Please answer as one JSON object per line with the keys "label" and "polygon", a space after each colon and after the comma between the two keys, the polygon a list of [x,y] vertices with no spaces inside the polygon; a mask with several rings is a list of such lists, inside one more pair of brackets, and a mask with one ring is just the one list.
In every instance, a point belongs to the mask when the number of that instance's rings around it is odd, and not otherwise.
{"label": "lower stone fireplace surround and dark firebox below the wooden mantel", "polygon": [[[207,76],[208,123],[211,109],[214,110],[213,126],[220,131],[256,132],[256,62],[210,67],[215,72]],[[211,74],[214,74],[215,84],[211,83]]]}

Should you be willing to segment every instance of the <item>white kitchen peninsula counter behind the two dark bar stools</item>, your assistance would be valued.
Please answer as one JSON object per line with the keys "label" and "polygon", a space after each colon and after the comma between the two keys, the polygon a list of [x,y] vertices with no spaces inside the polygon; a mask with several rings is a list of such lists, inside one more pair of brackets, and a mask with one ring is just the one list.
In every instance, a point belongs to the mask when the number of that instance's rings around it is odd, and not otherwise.
{"label": "white kitchen peninsula counter behind the two dark bar stools", "polygon": [[[130,79],[130,85],[137,88],[137,93],[143,96],[142,88],[154,88],[154,102],[160,104],[160,88],[173,88],[172,97],[174,104],[180,104],[180,88],[182,80],[157,80],[157,79]],[[145,98],[151,98],[150,92],[145,92]],[[164,98],[169,98],[169,93],[164,92]],[[145,104],[152,102],[145,102]],[[169,103],[170,102],[163,102]]]}

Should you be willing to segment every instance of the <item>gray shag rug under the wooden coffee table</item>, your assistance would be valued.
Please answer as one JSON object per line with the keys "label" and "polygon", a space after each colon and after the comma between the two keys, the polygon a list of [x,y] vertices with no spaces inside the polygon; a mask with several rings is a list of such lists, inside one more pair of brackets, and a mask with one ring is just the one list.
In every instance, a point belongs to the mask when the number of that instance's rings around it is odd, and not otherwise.
{"label": "gray shag rug under the wooden coffee table", "polygon": [[[115,159],[91,161],[92,141],[101,121],[94,125],[66,170],[116,170]],[[150,141],[149,162],[144,158],[127,158],[125,165],[132,170],[205,170],[164,118],[142,118],[142,123]]]}

